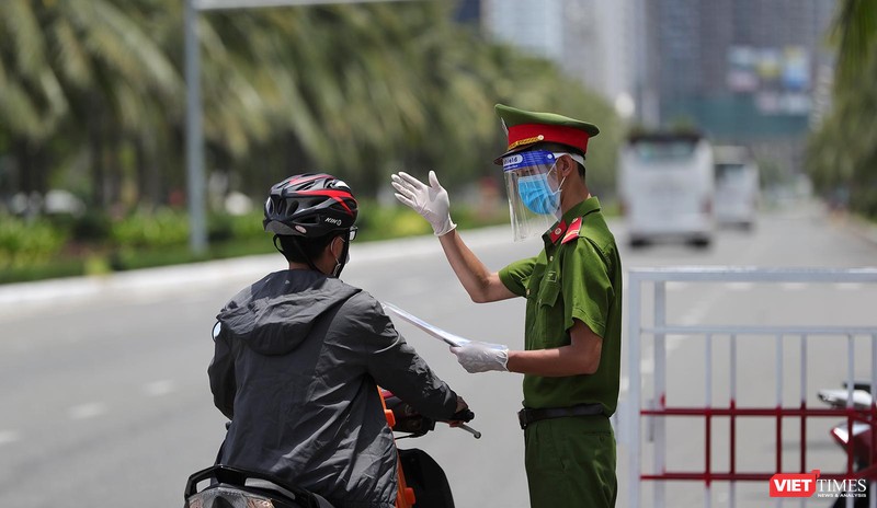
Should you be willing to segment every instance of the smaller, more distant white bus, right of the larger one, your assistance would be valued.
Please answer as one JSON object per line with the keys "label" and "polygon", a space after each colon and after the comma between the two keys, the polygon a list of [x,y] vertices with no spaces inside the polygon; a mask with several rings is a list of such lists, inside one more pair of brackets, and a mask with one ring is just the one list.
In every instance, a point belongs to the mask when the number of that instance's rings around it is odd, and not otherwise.
{"label": "smaller, more distant white bus, right of the larger one", "polygon": [[720,226],[755,224],[759,166],[744,147],[716,147],[716,221]]}

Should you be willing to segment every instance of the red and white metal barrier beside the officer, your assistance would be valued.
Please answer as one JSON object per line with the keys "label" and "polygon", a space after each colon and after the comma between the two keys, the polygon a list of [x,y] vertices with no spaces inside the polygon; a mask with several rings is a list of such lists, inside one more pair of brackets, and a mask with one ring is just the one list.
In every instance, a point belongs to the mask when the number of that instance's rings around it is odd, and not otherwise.
{"label": "red and white metal barrier beside the officer", "polygon": [[[877,325],[866,326],[810,326],[810,325],[783,325],[783,326],[760,326],[751,324],[671,324],[668,323],[668,282],[790,282],[790,284],[875,284],[877,287],[877,269],[760,269],[760,268],[738,268],[738,267],[670,267],[670,268],[634,268],[628,272],[628,336],[627,348],[629,356],[629,388],[628,407],[633,409],[630,416],[633,420],[627,424],[629,442],[627,449],[628,458],[628,483],[626,490],[629,495],[629,506],[639,507],[640,483],[642,481],[653,482],[653,496],[649,497],[649,505],[663,507],[665,505],[664,483],[668,481],[694,481],[703,482],[706,497],[705,504],[710,504],[710,484],[714,482],[730,482],[729,506],[736,506],[734,483],[744,481],[764,481],[765,488],[767,481],[775,473],[808,473],[807,469],[807,442],[805,440],[807,422],[811,417],[843,417],[847,419],[848,430],[852,430],[854,423],[869,425],[872,430],[877,427],[877,406],[870,403],[869,411],[856,411],[852,405],[854,389],[854,363],[856,359],[854,337],[869,337],[870,339],[870,382],[877,386]],[[653,309],[651,323],[643,323],[642,286],[646,282],[653,285]],[[830,304],[830,303],[829,303]],[[873,309],[877,310],[877,301]],[[877,316],[868,316],[877,319]],[[704,337],[705,339],[705,401],[699,407],[672,406],[667,401],[667,360],[668,360],[668,335]],[[764,335],[773,336],[775,339],[776,363],[776,404],[773,407],[752,407],[738,406],[737,384],[738,384],[738,358],[737,342],[739,336]],[[716,337],[727,336],[730,343],[729,358],[729,401],[727,405],[715,405],[713,402],[713,343]],[[783,366],[784,366],[784,337],[797,336],[800,338],[800,404],[797,406],[786,406],[783,403]],[[807,405],[807,342],[811,336],[836,336],[846,337],[846,384],[847,384],[847,406],[846,408],[824,408],[808,407]],[[653,338],[653,393],[652,403],[648,406],[642,405],[642,366],[643,338]],[[704,464],[702,471],[668,471],[665,441],[667,418],[674,416],[687,416],[703,418],[705,447]],[[740,418],[761,417],[773,418],[776,422],[776,460],[771,471],[741,471],[737,466],[737,424]],[[729,463],[727,470],[717,471],[713,467],[713,439],[715,438],[714,420],[727,419],[728,426],[728,455]],[[783,422],[794,418],[800,420],[800,461],[797,464],[785,464],[794,471],[784,471],[783,464]],[[650,435],[653,436],[653,466],[651,472],[642,472],[642,420],[649,423]],[[859,424],[861,425],[861,424]],[[852,432],[851,432],[852,434]],[[877,432],[873,432],[877,438]],[[852,441],[852,440],[851,440]],[[822,478],[851,478],[853,473],[853,457],[851,449],[847,448],[846,471],[835,474],[824,474]],[[874,453],[872,452],[872,459]],[[877,463],[877,461],[874,461]],[[870,506],[877,506],[877,484],[874,483],[873,472],[867,473],[872,481]],[[765,493],[765,497],[767,494]],[[847,506],[852,507],[852,498],[847,499]],[[782,498],[777,498],[777,504]],[[804,503],[804,499],[801,499]]]}

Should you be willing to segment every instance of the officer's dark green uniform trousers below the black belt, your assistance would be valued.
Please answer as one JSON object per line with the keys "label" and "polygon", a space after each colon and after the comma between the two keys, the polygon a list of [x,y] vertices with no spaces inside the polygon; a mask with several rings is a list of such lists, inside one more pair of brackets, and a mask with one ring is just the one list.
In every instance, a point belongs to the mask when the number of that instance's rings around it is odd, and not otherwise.
{"label": "officer's dark green uniform trousers below the black belt", "polygon": [[543,419],[524,430],[531,508],[615,506],[615,435],[608,418]]}

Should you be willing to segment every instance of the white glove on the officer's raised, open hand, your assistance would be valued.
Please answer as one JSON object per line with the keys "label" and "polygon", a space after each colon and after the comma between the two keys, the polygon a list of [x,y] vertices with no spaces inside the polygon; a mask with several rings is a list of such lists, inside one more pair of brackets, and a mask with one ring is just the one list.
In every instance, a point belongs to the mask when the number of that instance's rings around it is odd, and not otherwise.
{"label": "white glove on the officer's raised, open hand", "polygon": [[396,199],[426,219],[436,236],[447,234],[457,227],[451,220],[451,201],[447,198],[447,190],[438,183],[434,171],[430,171],[429,186],[401,171],[399,174],[391,175],[390,178],[396,188]]}

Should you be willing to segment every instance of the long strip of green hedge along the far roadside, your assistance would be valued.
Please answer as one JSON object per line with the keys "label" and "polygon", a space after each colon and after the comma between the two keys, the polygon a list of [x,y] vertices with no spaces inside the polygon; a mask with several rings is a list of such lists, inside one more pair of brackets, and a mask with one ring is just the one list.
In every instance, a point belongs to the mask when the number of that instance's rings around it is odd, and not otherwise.
{"label": "long strip of green hedge along the far roadside", "polygon": [[[459,207],[454,220],[462,228],[508,222],[503,211]],[[431,234],[430,224],[409,208],[360,204],[357,242]],[[99,275],[206,259],[273,253],[262,229],[262,211],[208,217],[208,252],[189,249],[189,217],[160,209],[112,219],[102,213],[27,221],[0,215],[0,284],[56,277]]]}

